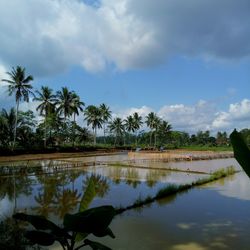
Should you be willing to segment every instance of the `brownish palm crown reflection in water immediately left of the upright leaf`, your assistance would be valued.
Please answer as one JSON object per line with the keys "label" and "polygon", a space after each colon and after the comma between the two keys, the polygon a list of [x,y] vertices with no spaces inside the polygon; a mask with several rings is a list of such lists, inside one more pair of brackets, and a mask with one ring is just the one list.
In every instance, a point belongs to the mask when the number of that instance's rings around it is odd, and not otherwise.
{"label": "brownish palm crown reflection in water immediately left of the upright leaf", "polygon": [[56,214],[63,218],[66,213],[69,213],[76,208],[81,194],[77,190],[65,189],[55,195],[55,204],[57,205]]}

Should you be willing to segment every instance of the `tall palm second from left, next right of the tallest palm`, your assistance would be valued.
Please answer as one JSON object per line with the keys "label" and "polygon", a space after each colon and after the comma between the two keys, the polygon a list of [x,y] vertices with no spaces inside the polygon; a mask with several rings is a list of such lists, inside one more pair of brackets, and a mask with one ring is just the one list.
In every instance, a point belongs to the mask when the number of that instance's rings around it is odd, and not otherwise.
{"label": "tall palm second from left, next right of the tallest palm", "polygon": [[55,95],[53,95],[53,90],[47,86],[42,86],[41,91],[36,91],[37,96],[33,99],[34,101],[39,101],[40,104],[37,106],[36,110],[40,111],[40,115],[44,116],[44,147],[46,148],[47,141],[47,117],[55,109]]}

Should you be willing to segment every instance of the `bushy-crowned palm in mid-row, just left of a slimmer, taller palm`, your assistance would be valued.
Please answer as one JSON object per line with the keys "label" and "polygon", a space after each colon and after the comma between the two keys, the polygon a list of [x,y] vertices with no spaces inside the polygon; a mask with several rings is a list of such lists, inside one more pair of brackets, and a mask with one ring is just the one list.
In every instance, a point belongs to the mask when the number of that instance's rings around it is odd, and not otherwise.
{"label": "bushy-crowned palm in mid-row, just left of a slimmer, taller palm", "polygon": [[101,109],[90,105],[84,111],[85,118],[84,120],[87,121],[87,126],[91,125],[94,133],[94,145],[96,145],[96,133],[97,128],[102,128],[103,124],[103,116]]}

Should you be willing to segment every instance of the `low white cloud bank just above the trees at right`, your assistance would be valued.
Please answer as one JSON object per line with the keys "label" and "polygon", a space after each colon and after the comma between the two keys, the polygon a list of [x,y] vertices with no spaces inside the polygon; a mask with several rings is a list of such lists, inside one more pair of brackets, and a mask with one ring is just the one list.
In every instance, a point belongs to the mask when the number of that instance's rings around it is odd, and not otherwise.
{"label": "low white cloud bank just above the trees at right", "polygon": [[[159,117],[168,121],[174,130],[196,133],[200,130],[210,130],[212,134],[218,131],[231,132],[234,128],[241,130],[250,128],[250,100],[243,99],[239,103],[232,103],[228,110],[218,111],[216,105],[200,100],[194,105],[165,105],[159,110],[147,106],[117,110],[114,117],[125,119],[128,115],[138,112],[145,121],[150,112],[156,112]],[[142,129],[145,129],[144,126]]]}

